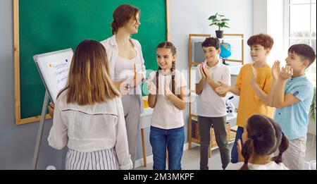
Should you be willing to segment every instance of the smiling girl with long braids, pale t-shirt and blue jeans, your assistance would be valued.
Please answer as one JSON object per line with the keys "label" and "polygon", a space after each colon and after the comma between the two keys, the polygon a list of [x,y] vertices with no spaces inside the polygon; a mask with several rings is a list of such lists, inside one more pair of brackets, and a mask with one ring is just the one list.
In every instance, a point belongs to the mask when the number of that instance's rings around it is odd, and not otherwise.
{"label": "smiling girl with long braids, pale t-shirt and blue jeans", "polygon": [[[162,42],[156,49],[159,69],[149,75],[149,106],[154,108],[151,117],[150,143],[153,152],[153,169],[180,170],[185,142],[182,110],[187,86],[184,75],[175,70],[176,48],[171,42]],[[172,89],[170,91],[170,89]]]}

